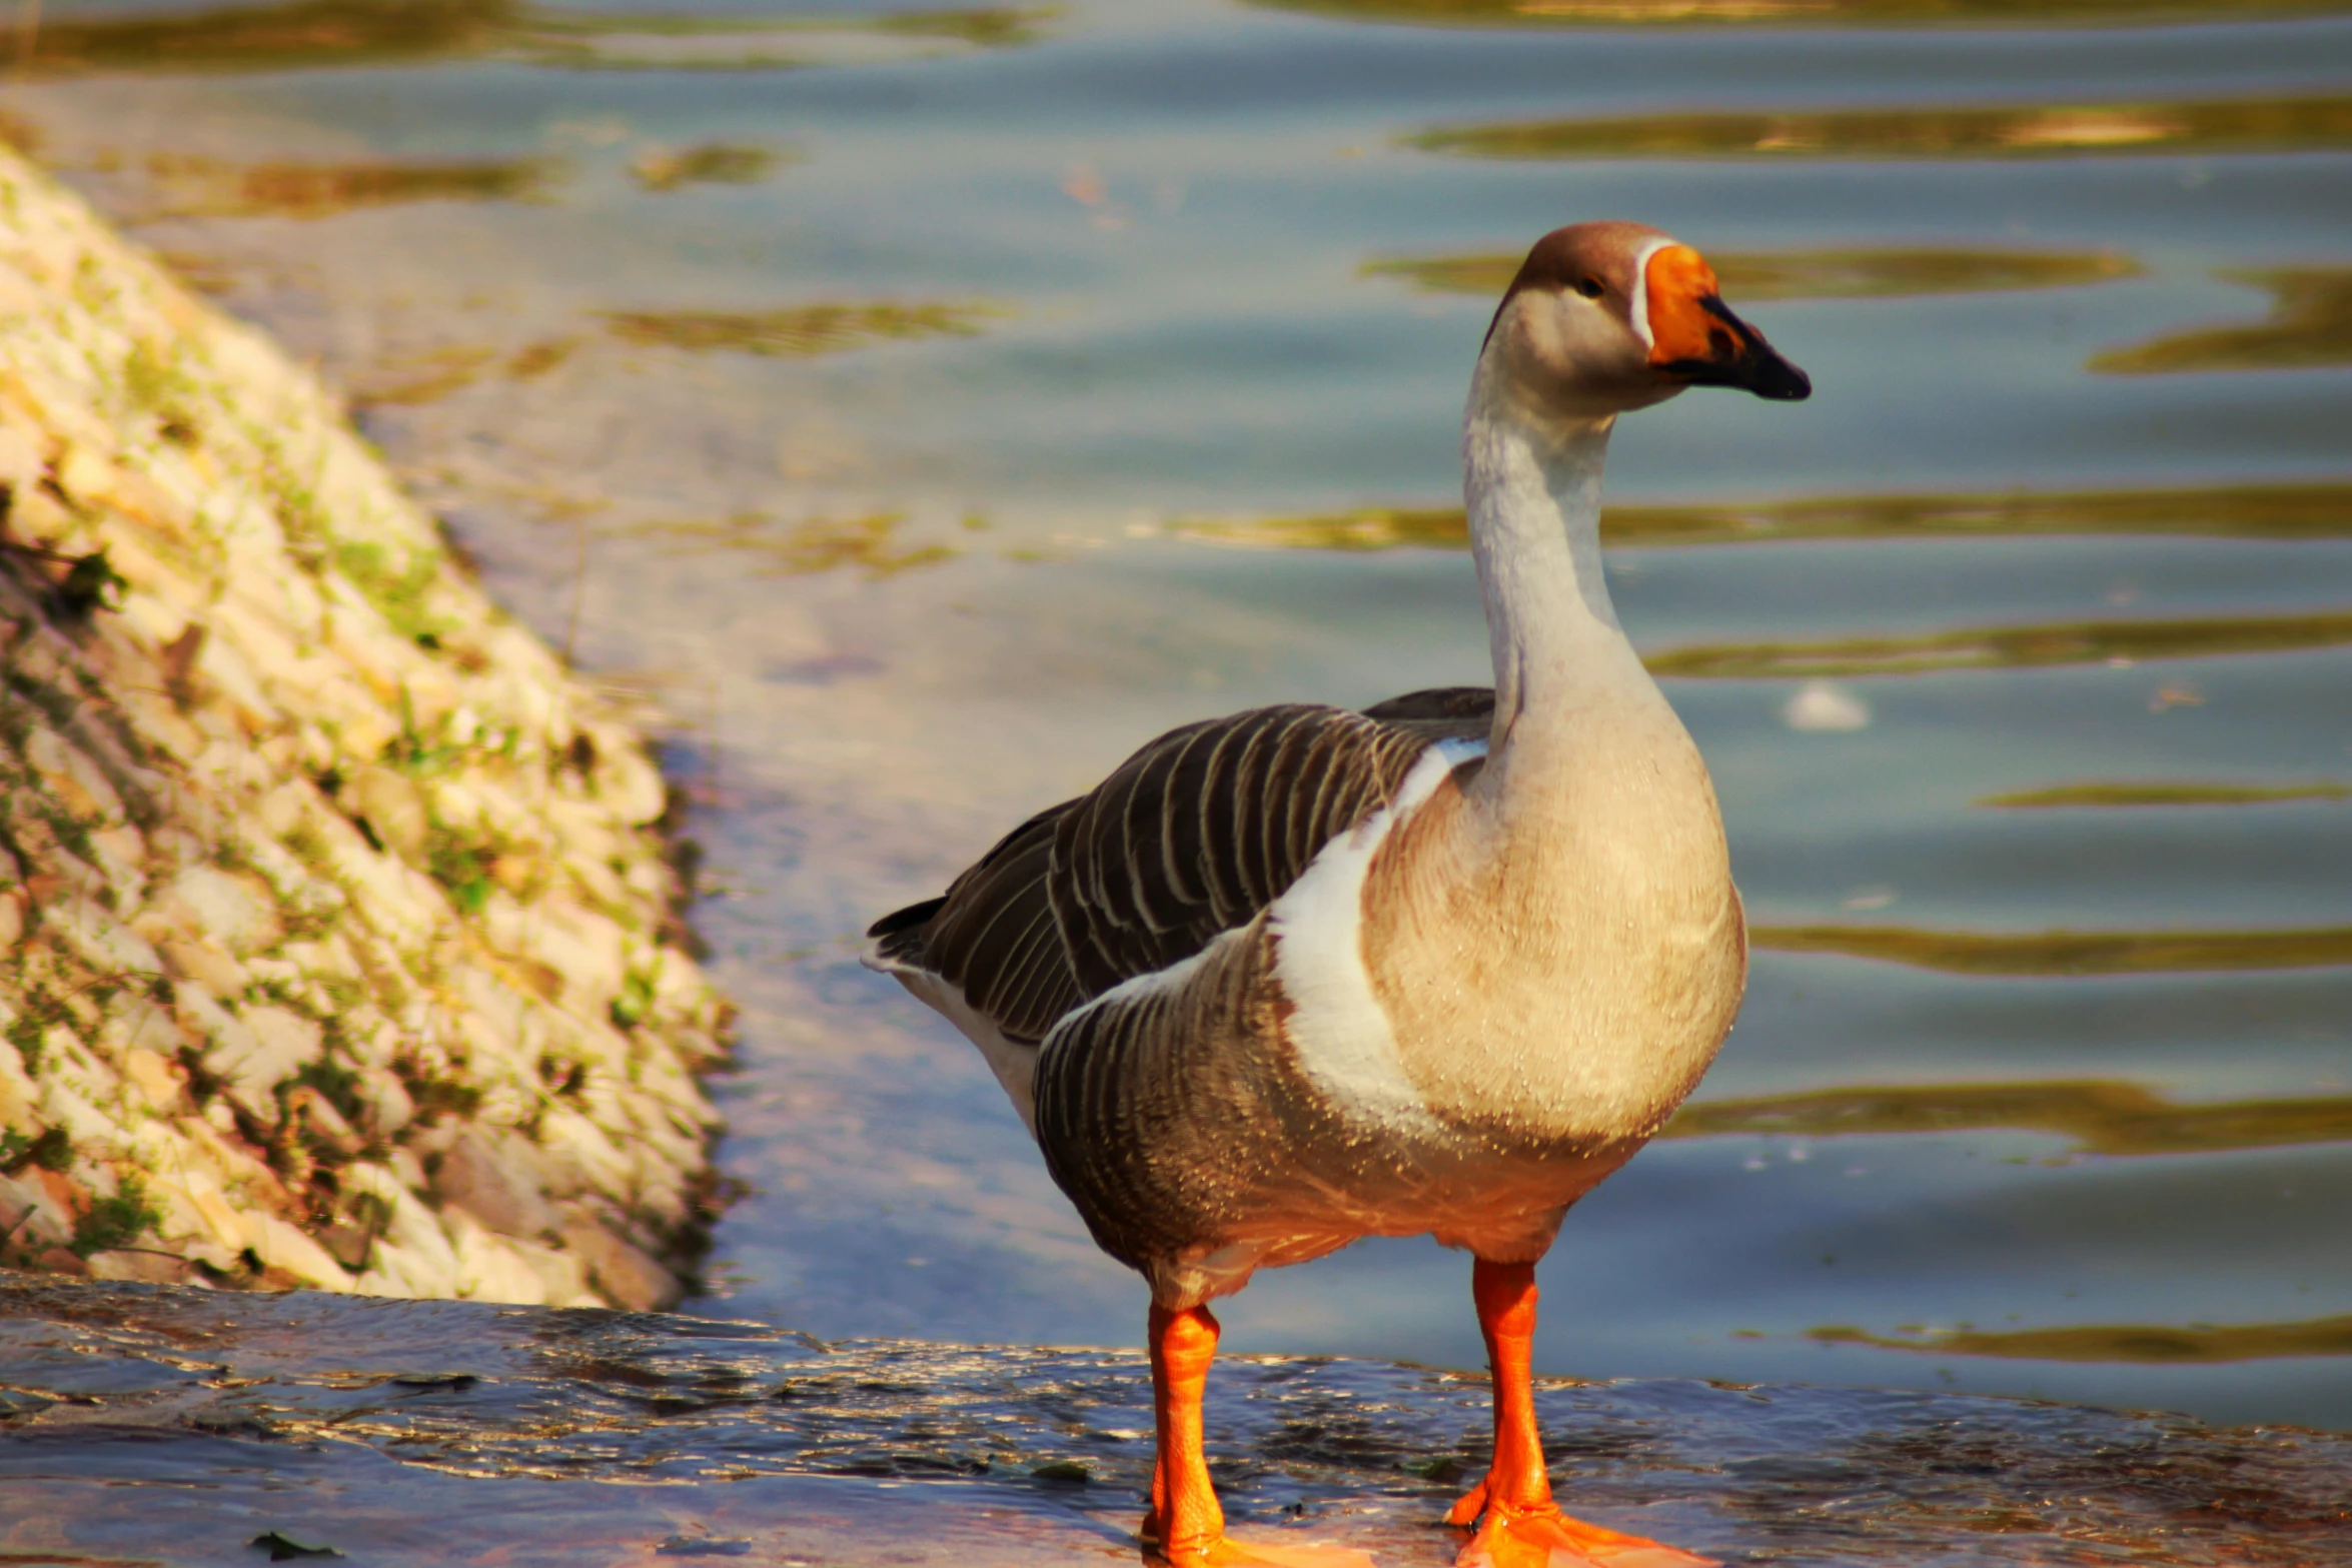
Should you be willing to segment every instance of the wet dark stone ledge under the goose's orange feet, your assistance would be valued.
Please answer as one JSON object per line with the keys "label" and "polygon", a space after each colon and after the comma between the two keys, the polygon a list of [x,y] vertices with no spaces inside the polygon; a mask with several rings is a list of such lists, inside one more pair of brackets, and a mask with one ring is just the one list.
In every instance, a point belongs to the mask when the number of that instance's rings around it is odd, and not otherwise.
{"label": "wet dark stone ledge under the goose's orange feet", "polygon": [[[1143,1356],[821,1345],[762,1324],[0,1281],[0,1552],[353,1561],[1136,1561]],[[1444,1561],[1477,1378],[1228,1361],[1242,1540]],[[1559,1382],[1581,1512],[1726,1563],[2232,1563],[2352,1552],[2352,1439],[1955,1394]]]}

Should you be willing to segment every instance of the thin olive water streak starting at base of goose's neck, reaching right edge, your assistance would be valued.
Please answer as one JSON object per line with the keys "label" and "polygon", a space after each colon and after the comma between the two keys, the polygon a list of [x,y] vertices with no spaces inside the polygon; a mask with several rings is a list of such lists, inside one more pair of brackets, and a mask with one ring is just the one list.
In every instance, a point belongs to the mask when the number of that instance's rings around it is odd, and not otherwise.
{"label": "thin olive water streak starting at base of goose's neck, reaching right edge", "polygon": [[2110,658],[2218,658],[2296,654],[2352,642],[2352,614],[2216,616],[2180,621],[2067,621],[1987,625],[1919,637],[1835,642],[1724,642],[1646,654],[1651,675],[1788,679],[1806,675],[1924,675],[1929,670],[2027,670]]}

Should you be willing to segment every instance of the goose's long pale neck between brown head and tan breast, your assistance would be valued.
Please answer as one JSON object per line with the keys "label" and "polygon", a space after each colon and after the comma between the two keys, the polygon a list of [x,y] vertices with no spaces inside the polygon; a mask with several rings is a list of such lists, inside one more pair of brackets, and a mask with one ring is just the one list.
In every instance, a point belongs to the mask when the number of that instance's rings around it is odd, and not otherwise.
{"label": "goose's long pale neck between brown head and tan breast", "polygon": [[1602,578],[1609,416],[1538,418],[1479,367],[1463,421],[1470,548],[1494,642],[1494,755],[1543,750],[1611,696],[1656,693]]}

